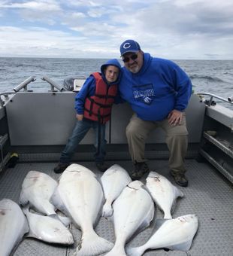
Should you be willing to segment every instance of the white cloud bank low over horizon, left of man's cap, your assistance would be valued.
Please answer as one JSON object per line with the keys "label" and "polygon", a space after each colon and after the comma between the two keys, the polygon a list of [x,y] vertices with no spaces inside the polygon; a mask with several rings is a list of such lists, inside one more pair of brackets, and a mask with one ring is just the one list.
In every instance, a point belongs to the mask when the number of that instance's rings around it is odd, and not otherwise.
{"label": "white cloud bank low over horizon, left of man's cap", "polygon": [[106,50],[106,45],[99,47],[88,38],[77,38],[66,32],[38,27],[19,29],[2,26],[0,38],[0,56],[95,56],[101,58],[112,55],[111,50]]}

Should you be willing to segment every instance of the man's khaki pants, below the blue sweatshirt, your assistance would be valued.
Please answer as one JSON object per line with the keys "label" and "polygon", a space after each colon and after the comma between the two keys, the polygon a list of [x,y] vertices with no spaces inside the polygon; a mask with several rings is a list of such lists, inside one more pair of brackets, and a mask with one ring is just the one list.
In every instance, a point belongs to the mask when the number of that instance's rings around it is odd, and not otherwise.
{"label": "man's khaki pants, below the blue sweatshirt", "polygon": [[188,131],[186,128],[186,116],[183,114],[183,120],[180,125],[171,126],[168,119],[161,121],[145,121],[133,114],[128,126],[126,127],[126,136],[129,145],[129,154],[133,163],[146,161],[145,140],[152,130],[161,127],[166,133],[166,144],[170,151],[169,167],[171,172],[184,173],[184,159],[188,148]]}

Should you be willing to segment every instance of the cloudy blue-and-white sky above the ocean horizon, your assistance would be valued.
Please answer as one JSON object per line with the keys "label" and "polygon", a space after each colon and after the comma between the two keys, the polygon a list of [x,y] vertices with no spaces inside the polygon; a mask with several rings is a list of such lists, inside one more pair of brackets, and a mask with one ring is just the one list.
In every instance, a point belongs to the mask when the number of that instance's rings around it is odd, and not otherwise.
{"label": "cloudy blue-and-white sky above the ocean horizon", "polygon": [[0,56],[233,59],[232,0],[0,0]]}

